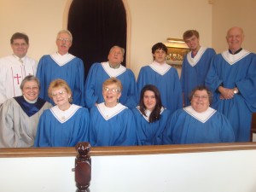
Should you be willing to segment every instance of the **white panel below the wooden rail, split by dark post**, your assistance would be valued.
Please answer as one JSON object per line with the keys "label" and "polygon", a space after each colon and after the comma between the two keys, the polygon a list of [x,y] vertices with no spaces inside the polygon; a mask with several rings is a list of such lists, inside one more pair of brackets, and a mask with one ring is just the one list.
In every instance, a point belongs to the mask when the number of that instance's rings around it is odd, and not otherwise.
{"label": "white panel below the wooden rail, split by dark post", "polygon": [[[74,157],[0,158],[4,192],[75,191]],[[256,150],[92,157],[91,192],[255,192]]]}

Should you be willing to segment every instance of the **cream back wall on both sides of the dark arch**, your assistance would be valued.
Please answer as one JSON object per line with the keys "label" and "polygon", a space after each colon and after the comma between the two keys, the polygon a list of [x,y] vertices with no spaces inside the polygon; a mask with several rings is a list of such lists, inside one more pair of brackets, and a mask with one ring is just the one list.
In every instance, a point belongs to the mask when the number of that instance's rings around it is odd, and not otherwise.
{"label": "cream back wall on both sides of the dark arch", "polygon": [[[55,51],[55,36],[66,26],[70,1],[0,0],[0,56],[12,52],[9,38],[14,32],[29,35],[28,55],[37,60]],[[207,0],[124,1],[131,13],[131,63],[127,66],[136,76],[142,66],[152,61],[153,44],[165,42],[166,38],[182,38],[189,28],[198,29],[201,43],[211,46],[212,5]]]}

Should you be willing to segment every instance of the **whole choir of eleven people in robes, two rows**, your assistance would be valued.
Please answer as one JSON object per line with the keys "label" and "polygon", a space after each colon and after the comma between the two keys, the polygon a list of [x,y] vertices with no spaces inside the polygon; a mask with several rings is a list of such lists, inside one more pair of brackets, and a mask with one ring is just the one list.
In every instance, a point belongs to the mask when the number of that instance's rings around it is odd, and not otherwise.
{"label": "whole choir of eleven people in robes, two rows", "polygon": [[16,32],[13,54],[0,58],[0,148],[161,145],[247,142],[256,112],[256,55],[241,48],[234,26],[228,49],[201,46],[199,32],[183,40],[190,52],[181,77],[166,64],[167,48],[152,47],[153,62],[137,80],[113,46],[84,78],[84,63],[68,52],[71,32],[57,33],[57,51],[37,62],[29,38]]}

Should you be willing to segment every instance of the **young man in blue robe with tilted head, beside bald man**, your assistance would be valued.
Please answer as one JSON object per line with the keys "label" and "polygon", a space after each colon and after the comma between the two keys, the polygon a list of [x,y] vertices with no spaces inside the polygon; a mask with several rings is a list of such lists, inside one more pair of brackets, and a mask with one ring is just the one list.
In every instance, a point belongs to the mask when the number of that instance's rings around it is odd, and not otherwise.
{"label": "young man in blue robe with tilted head, beside bald man", "polygon": [[216,55],[216,53],[212,48],[201,47],[199,32],[196,30],[184,32],[183,40],[190,49],[190,52],[183,60],[181,73],[183,104],[184,107],[187,107],[190,105],[189,94],[191,91],[199,85],[205,85],[212,56]]}

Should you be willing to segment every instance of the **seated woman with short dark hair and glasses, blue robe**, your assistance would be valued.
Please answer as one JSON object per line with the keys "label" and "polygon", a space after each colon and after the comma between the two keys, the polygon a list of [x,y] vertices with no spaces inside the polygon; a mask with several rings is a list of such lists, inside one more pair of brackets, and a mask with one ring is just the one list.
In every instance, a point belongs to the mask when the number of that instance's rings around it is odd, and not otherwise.
{"label": "seated woman with short dark hair and glasses, blue robe", "polygon": [[196,87],[190,96],[191,106],[177,109],[163,132],[164,144],[229,143],[234,132],[229,120],[213,108],[212,92],[205,86]]}

